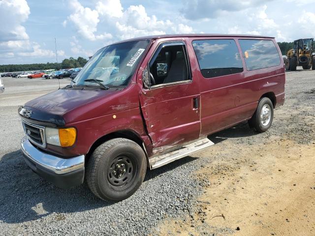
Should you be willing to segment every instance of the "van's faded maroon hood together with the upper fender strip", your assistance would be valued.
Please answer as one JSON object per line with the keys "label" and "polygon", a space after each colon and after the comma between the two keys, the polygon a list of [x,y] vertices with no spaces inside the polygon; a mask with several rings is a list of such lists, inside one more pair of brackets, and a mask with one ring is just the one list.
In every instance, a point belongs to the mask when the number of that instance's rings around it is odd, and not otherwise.
{"label": "van's faded maroon hood together with the upper fender strip", "polygon": [[19,108],[23,119],[63,127],[87,119],[139,108],[137,84],[118,89],[58,89]]}

